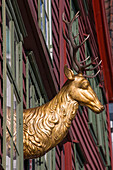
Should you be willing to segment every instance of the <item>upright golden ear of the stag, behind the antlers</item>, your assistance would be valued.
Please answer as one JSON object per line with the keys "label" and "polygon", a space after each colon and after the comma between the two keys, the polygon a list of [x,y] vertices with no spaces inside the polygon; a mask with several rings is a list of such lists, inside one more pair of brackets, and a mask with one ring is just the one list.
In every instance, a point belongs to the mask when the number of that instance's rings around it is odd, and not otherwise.
{"label": "upright golden ear of the stag, behind the antlers", "polygon": [[74,73],[67,65],[64,66],[64,74],[69,80],[74,79]]}

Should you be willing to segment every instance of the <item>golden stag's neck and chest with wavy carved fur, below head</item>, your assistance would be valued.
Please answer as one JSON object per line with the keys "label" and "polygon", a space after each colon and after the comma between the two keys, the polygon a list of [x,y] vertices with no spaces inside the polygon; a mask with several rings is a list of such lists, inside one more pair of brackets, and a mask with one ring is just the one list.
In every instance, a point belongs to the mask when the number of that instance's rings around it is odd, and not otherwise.
{"label": "golden stag's neck and chest with wavy carved fur, below head", "polygon": [[74,119],[78,103],[63,87],[49,103],[25,110],[23,114],[24,156],[40,157],[60,143]]}

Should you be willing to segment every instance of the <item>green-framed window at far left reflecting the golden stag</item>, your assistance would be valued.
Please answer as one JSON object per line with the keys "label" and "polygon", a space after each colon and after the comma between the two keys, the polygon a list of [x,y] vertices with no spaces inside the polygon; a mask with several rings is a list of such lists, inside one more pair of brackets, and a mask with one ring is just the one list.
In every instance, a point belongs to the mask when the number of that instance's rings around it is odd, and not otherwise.
{"label": "green-framed window at far left reflecting the golden stag", "polygon": [[16,170],[23,169],[23,73],[22,41],[20,38],[22,34],[14,17],[12,3],[3,3],[2,8],[6,12],[3,14],[2,165],[6,170]]}

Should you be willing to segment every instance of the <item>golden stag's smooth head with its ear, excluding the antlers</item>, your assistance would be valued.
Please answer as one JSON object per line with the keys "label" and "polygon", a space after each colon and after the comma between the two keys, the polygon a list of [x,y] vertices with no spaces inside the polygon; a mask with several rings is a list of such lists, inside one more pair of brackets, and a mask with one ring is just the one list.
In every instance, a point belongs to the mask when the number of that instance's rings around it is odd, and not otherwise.
{"label": "golden stag's smooth head with its ear, excluding the antlers", "polygon": [[67,66],[64,67],[64,73],[69,79],[69,96],[80,105],[89,107],[95,113],[100,113],[104,107],[91,88],[89,81],[81,73],[74,75],[73,71]]}

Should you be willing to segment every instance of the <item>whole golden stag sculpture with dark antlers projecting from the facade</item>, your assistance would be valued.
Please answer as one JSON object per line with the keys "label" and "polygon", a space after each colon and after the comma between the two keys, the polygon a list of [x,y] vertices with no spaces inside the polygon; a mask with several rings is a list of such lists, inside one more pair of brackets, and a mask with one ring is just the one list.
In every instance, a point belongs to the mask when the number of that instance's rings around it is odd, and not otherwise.
{"label": "whole golden stag sculpture with dark antlers projecting from the facade", "polygon": [[88,35],[81,44],[75,44],[75,37],[72,37],[72,24],[77,17],[78,13],[68,22],[63,15],[63,21],[68,26],[69,39],[64,35],[64,32],[63,35],[69,44],[70,55],[74,59],[75,70],[78,74],[74,75],[73,71],[65,65],[64,73],[68,80],[60,92],[50,102],[40,107],[24,110],[23,145],[25,159],[40,157],[60,143],[68,133],[79,105],[87,106],[95,113],[100,113],[104,109],[89,81],[85,79],[85,77],[95,77],[100,70],[91,76],[83,74],[84,71],[95,69],[101,62],[96,67],[89,69],[88,67],[92,63],[81,65],[76,59],[78,48],[89,38]]}

